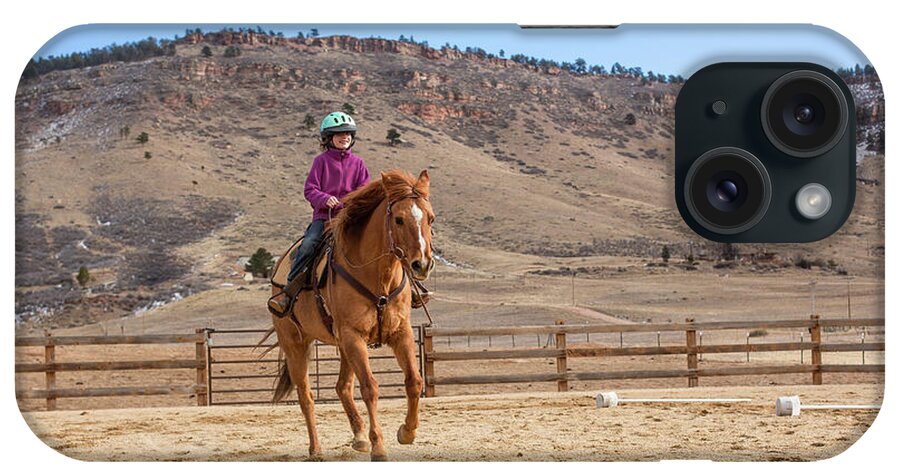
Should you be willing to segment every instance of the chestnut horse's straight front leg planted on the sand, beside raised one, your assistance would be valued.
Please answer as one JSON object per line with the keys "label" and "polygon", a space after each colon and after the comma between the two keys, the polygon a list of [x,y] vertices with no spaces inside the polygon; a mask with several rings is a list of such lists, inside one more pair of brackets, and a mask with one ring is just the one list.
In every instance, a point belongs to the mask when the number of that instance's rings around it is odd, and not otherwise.
{"label": "chestnut horse's straight front leg planted on the sand, beside raised one", "polygon": [[372,461],[386,461],[387,450],[384,448],[384,437],[381,425],[378,424],[378,382],[369,367],[369,351],[362,335],[353,330],[342,330],[340,347],[343,358],[347,360],[356,378],[359,380],[359,393],[369,413],[369,442],[372,445]]}

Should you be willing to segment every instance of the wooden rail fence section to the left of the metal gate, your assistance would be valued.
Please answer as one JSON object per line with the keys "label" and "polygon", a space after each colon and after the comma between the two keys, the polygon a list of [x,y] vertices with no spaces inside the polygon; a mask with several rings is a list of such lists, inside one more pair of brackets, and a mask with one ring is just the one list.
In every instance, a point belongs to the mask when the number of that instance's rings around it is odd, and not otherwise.
{"label": "wooden rail fence section to the left of the metal gate", "polygon": [[[16,347],[43,347],[44,361],[41,363],[16,362],[16,373],[43,373],[44,388],[19,388],[16,398],[45,399],[47,410],[56,409],[58,398],[75,397],[122,397],[139,395],[196,395],[197,405],[207,405],[207,350],[206,329],[197,329],[194,334],[165,334],[142,336],[44,336],[17,337]],[[60,362],[56,349],[61,346],[84,345],[124,345],[124,344],[185,344],[194,345],[193,359],[167,360],[127,360]],[[87,387],[58,388],[58,372],[114,371],[114,370],[166,370],[196,369],[193,382],[182,385],[154,385],[136,387]]]}

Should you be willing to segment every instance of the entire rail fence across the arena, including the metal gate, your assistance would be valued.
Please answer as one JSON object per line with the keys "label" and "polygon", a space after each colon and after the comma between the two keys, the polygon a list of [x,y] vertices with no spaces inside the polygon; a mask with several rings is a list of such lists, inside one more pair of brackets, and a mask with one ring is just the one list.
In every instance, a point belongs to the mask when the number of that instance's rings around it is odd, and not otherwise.
{"label": "entire rail fence across the arena, including the metal gate", "polygon": [[[689,387],[699,385],[701,377],[743,376],[743,375],[777,375],[777,374],[802,374],[811,375],[813,384],[822,383],[822,375],[826,373],[883,373],[883,364],[861,365],[826,365],[822,363],[823,353],[828,352],[867,352],[884,351],[884,342],[860,342],[860,343],[824,343],[822,341],[823,329],[850,328],[850,327],[884,327],[884,319],[820,319],[819,316],[811,316],[809,319],[796,319],[784,321],[731,321],[731,322],[694,322],[688,319],[678,324],[623,324],[623,325],[566,325],[561,321],[556,325],[547,326],[517,326],[517,327],[488,327],[488,328],[444,328],[431,326],[418,326],[416,328],[420,371],[425,378],[424,393],[426,397],[436,394],[439,385],[493,385],[507,383],[532,383],[532,382],[556,382],[558,391],[567,391],[570,382],[591,380],[620,380],[620,379],[657,379],[657,378],[685,378]],[[808,330],[810,339],[800,342],[766,342],[750,343],[749,337],[742,344],[703,345],[704,331],[727,330],[771,330],[771,329],[804,329]],[[104,396],[139,396],[139,395],[195,395],[198,405],[228,405],[248,403],[269,403],[272,389],[256,388],[252,383],[228,387],[226,382],[253,382],[256,379],[272,379],[273,367],[265,365],[274,364],[277,360],[272,358],[261,359],[258,352],[255,355],[235,357],[233,354],[218,355],[217,352],[234,352],[242,350],[258,350],[256,342],[229,342],[220,337],[235,334],[260,334],[259,329],[251,330],[215,330],[197,329],[194,334],[169,334],[169,335],[143,335],[143,336],[45,336],[45,337],[18,337],[17,347],[43,347],[44,359],[40,363],[16,362],[17,373],[43,373],[43,388],[16,388],[16,398],[20,399],[44,399],[48,410],[56,409],[58,398],[72,397],[104,397]],[[657,340],[655,346],[623,346],[621,336],[628,333],[683,333],[684,344],[662,345]],[[596,341],[591,343],[591,335],[619,334],[620,345],[604,346]],[[213,342],[213,336],[216,342]],[[491,345],[491,337],[510,336],[515,346],[515,336],[537,335],[538,347],[512,348],[512,349],[482,349],[482,350],[456,350],[449,346],[447,350],[435,350],[435,340],[447,337],[448,344],[451,337],[464,337],[467,341],[472,338],[487,337],[488,345]],[[541,335],[550,336],[546,345],[542,346]],[[570,337],[586,335],[587,342],[584,345],[572,346]],[[749,333],[748,333],[749,336]],[[521,342],[521,339],[520,339]],[[193,344],[195,348],[193,359],[168,359],[168,360],[126,360],[103,362],[61,362],[56,358],[56,348],[59,346],[83,346],[83,345],[122,345],[122,344]],[[552,344],[552,346],[551,346]],[[807,363],[748,366],[734,365],[728,367],[717,366],[715,368],[701,368],[701,356],[705,354],[746,353],[748,356],[754,352],[786,352],[809,351],[811,360]],[[310,362],[310,378],[315,383],[314,391],[319,401],[334,400],[335,396],[321,395],[320,391],[333,391],[333,384],[325,381],[334,378],[339,359],[337,355],[329,356],[319,354],[319,346],[314,349],[315,357]],[[327,352],[327,351],[323,351]],[[663,356],[684,355],[686,366],[672,369],[640,369],[640,370],[615,370],[615,371],[591,371],[573,372],[568,370],[569,359],[607,358],[623,356]],[[382,388],[397,387],[397,397],[403,397],[402,374],[393,362],[394,357],[389,349],[382,349],[381,354],[373,352],[371,359],[376,373],[385,374],[386,381]],[[456,372],[452,376],[441,376],[435,370],[438,362],[451,361],[492,361],[504,359],[555,359],[556,371],[547,373],[526,374],[501,374],[501,375],[467,375]],[[384,365],[376,369],[378,362]],[[865,359],[863,359],[865,362]],[[329,367],[329,365],[331,367]],[[232,367],[235,366],[235,367]],[[59,388],[56,385],[58,372],[83,372],[83,371],[129,371],[129,370],[166,370],[166,369],[194,369],[195,378],[192,382],[180,385],[155,385],[136,387],[113,388]],[[398,380],[397,382],[391,379]],[[264,392],[264,397],[248,398],[247,394]],[[227,395],[232,397],[226,397]],[[213,398],[213,395],[217,397]],[[236,397],[235,397],[236,396]],[[387,392],[385,397],[390,397]],[[237,399],[235,399],[237,398]]]}

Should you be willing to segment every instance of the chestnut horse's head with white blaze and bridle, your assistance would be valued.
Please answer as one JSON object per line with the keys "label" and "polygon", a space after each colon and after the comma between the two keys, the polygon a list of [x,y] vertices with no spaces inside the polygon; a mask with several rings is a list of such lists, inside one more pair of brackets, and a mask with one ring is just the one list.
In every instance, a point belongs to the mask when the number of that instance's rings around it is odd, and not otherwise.
{"label": "chestnut horse's head with white blaze and bridle", "polygon": [[391,251],[409,267],[413,279],[423,281],[434,269],[431,253],[434,211],[428,201],[428,171],[423,170],[415,182],[399,174],[382,173],[381,183],[388,201],[386,227]]}

